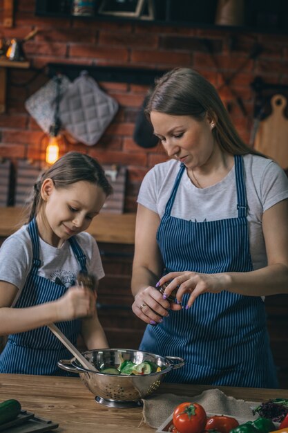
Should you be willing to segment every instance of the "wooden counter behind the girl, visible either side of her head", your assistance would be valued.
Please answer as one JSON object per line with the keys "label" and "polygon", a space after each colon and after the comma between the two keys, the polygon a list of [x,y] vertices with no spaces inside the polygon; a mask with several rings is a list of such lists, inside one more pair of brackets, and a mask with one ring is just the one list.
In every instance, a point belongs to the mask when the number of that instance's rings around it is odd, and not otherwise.
{"label": "wooden counter behind the girl, visible either side of her head", "polygon": [[[8,237],[21,227],[25,220],[23,208],[0,208],[0,237]],[[101,212],[87,230],[98,242],[134,243],[135,214]]]}

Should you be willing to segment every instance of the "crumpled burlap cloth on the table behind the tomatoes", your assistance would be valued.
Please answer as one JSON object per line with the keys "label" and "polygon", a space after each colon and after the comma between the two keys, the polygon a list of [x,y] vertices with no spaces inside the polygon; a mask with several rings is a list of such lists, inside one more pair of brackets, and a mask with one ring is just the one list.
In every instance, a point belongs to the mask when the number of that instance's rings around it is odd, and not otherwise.
{"label": "crumpled burlap cloth on the table behind the tomatoes", "polygon": [[159,394],[143,399],[143,416],[144,422],[151,427],[158,428],[166,418],[168,418],[177,405],[190,401],[199,403],[204,407],[206,412],[211,414],[225,414],[243,418],[244,420],[253,420],[251,407],[257,403],[238,400],[234,397],[227,396],[220,389],[207,389],[198,396],[176,396],[175,394]]}

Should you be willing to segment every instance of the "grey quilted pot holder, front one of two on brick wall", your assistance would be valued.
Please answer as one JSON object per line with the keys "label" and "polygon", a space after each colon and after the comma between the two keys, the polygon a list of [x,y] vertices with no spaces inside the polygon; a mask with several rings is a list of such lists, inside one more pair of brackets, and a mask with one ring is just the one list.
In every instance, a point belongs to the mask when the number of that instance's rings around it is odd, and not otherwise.
{"label": "grey quilted pot holder, front one of two on brick wall", "polygon": [[118,111],[118,103],[83,71],[60,101],[61,124],[85,145],[95,145]]}

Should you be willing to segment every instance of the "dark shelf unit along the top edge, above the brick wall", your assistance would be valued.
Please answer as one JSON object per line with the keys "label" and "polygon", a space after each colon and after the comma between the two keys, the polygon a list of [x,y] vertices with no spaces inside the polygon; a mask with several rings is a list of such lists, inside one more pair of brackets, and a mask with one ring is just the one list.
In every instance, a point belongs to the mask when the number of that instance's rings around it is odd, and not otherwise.
{"label": "dark shelf unit along the top edge, above the brick wall", "polygon": [[[131,12],[127,12],[126,15],[119,15],[117,10],[121,10],[125,1],[129,9],[131,4],[137,6],[142,0],[95,1],[95,8],[89,17],[73,15],[73,0],[36,0],[35,14],[42,17],[146,21],[160,25],[246,30],[259,33],[288,33],[288,2],[286,0],[244,0],[242,24],[237,25],[215,24],[218,22],[216,17],[219,15],[218,4],[220,4],[216,0],[143,0],[146,8],[148,4],[151,5],[152,15],[147,12],[145,7],[139,16],[135,16]],[[110,3],[115,4],[115,10],[112,7],[112,10],[107,13],[104,6]],[[150,9],[148,8],[148,10]],[[230,10],[231,12],[228,13],[234,13],[235,17],[239,15],[238,10],[233,11],[233,6]],[[224,13],[227,15],[227,12]],[[237,18],[236,22],[238,22]]]}

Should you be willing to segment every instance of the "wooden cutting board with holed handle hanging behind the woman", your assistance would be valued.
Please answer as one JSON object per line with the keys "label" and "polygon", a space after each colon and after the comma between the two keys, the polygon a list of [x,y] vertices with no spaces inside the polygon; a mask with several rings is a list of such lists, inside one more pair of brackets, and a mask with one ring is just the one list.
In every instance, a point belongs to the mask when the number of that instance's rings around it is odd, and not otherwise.
{"label": "wooden cutting board with holed handle hanging behind the woman", "polygon": [[276,160],[283,169],[288,168],[288,119],[285,116],[287,99],[273,95],[271,114],[259,122],[254,148]]}

